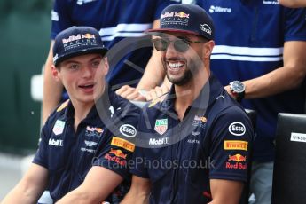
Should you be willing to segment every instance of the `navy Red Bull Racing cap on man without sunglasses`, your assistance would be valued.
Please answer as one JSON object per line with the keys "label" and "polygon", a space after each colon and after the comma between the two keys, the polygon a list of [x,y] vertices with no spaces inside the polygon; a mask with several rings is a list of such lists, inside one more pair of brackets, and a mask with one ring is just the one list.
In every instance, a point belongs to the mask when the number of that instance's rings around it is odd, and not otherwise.
{"label": "navy Red Bull Racing cap on man without sunglasses", "polygon": [[105,55],[107,48],[103,45],[98,30],[93,27],[69,27],[61,31],[53,45],[53,64],[83,54],[100,53]]}

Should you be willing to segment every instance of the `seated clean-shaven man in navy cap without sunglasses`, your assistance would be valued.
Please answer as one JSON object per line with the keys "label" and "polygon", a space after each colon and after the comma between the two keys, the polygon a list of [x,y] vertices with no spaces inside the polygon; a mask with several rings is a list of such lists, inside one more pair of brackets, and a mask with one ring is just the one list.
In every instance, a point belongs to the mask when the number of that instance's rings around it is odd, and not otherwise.
{"label": "seated clean-shaven man in navy cap without sunglasses", "polygon": [[52,75],[70,99],[48,118],[31,167],[3,203],[35,203],[46,187],[57,203],[119,203],[128,191],[139,110],[108,88],[106,51],[93,27],[57,35]]}

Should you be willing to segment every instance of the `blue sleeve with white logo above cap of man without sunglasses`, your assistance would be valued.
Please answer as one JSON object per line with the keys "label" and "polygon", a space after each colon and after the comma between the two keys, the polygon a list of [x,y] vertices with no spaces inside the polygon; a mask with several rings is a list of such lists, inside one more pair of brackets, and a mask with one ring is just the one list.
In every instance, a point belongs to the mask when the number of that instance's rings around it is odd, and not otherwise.
{"label": "blue sleeve with white logo above cap of man without sunglasses", "polygon": [[51,11],[51,39],[55,39],[60,31],[72,27],[67,0],[55,0]]}

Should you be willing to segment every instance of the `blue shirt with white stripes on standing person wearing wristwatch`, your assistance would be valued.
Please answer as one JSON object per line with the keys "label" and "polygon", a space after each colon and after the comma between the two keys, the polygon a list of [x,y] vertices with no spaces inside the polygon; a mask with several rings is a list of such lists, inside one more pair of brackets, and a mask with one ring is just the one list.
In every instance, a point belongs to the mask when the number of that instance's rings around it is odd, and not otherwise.
{"label": "blue shirt with white stripes on standing person wearing wristwatch", "polygon": [[[196,2],[209,12],[215,23],[216,46],[210,67],[224,86],[282,67],[284,43],[306,41],[306,9],[286,8],[277,0]],[[294,90],[270,97],[242,100],[242,106],[257,113],[255,161],[274,160],[278,113],[304,113],[305,82]]]}

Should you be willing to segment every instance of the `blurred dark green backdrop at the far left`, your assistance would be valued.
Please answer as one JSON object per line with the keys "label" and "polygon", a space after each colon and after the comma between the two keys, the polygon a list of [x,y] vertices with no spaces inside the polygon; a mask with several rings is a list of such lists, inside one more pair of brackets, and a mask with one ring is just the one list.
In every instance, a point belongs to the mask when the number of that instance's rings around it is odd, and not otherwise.
{"label": "blurred dark green backdrop at the far left", "polygon": [[0,1],[0,151],[37,147],[41,103],[30,95],[50,45],[51,1]]}

